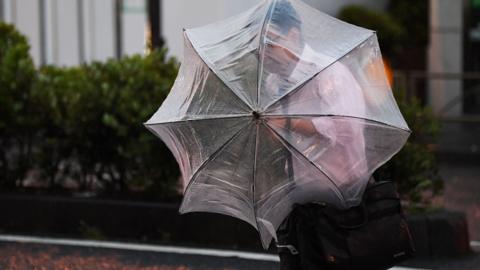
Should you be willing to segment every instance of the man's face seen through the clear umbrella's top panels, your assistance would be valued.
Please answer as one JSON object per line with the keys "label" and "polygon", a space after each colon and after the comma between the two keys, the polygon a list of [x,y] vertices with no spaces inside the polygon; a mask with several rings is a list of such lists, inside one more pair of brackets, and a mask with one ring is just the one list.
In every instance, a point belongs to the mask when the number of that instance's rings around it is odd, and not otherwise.
{"label": "man's face seen through the clear umbrella's top panels", "polygon": [[300,48],[299,30],[291,28],[285,35],[269,31],[267,40],[264,69],[280,76],[289,76],[299,61],[298,56],[293,52]]}

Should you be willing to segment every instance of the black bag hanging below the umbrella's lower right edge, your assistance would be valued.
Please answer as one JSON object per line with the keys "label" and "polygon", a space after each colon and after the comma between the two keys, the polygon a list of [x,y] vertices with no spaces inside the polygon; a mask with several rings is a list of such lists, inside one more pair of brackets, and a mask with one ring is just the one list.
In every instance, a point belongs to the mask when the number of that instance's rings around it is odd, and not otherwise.
{"label": "black bag hanging below the umbrella's lower right edge", "polygon": [[277,230],[282,270],[388,269],[415,252],[392,182],[367,186],[360,206],[346,210],[295,205]]}

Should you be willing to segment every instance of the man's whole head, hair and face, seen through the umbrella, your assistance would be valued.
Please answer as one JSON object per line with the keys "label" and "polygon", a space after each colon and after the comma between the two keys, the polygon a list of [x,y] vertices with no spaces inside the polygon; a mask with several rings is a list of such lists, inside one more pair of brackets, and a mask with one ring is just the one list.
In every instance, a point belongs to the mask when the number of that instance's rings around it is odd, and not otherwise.
{"label": "man's whole head, hair and face, seen through the umbrella", "polygon": [[267,28],[266,68],[278,75],[288,76],[299,61],[296,53],[303,50],[301,20],[295,8],[287,0],[275,3]]}

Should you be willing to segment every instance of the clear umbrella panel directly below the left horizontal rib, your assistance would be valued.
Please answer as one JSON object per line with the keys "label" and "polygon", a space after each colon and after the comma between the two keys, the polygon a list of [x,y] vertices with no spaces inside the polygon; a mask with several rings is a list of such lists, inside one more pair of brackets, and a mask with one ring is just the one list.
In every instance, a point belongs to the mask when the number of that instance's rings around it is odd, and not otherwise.
{"label": "clear umbrella panel directly below the left horizontal rib", "polygon": [[200,166],[231,140],[250,118],[226,118],[151,124],[147,127],[162,139],[177,160],[185,188]]}

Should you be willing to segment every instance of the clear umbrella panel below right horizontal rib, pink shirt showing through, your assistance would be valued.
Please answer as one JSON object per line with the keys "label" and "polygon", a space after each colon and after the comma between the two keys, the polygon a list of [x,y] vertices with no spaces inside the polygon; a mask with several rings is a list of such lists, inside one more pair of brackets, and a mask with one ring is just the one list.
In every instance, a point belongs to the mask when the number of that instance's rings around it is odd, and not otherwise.
{"label": "clear umbrella panel below right horizontal rib, pink shirt showing through", "polygon": [[360,203],[372,173],[400,150],[410,134],[381,123],[339,116],[278,117],[267,123],[335,183],[345,198],[338,207]]}

